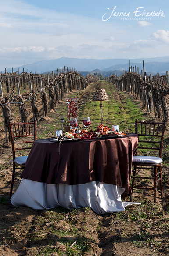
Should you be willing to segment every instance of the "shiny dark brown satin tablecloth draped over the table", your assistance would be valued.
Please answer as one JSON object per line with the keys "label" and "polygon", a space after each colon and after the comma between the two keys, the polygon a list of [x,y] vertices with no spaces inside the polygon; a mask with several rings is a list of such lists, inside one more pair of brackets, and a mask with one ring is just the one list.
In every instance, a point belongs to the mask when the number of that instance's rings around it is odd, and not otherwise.
{"label": "shiny dark brown satin tablecloth draped over the table", "polygon": [[132,158],[138,135],[112,139],[34,141],[21,178],[48,184],[84,184],[90,181],[121,186],[129,192]]}

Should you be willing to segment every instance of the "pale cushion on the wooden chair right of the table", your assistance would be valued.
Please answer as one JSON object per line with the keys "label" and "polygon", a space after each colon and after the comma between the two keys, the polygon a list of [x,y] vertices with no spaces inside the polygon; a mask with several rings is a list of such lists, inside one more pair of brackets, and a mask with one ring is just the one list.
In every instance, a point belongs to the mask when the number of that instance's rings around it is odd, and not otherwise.
{"label": "pale cushion on the wooden chair right of the table", "polygon": [[145,164],[160,164],[162,163],[162,158],[156,156],[145,156],[137,155],[133,156],[133,164],[145,163]]}

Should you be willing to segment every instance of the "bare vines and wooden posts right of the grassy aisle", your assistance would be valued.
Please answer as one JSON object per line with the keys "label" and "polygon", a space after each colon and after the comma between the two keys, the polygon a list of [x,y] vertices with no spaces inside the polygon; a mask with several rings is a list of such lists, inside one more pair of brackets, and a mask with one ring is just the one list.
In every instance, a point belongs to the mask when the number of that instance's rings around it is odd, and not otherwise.
{"label": "bare vines and wooden posts right of the grassy aisle", "polygon": [[166,97],[169,94],[168,74],[162,76],[147,77],[134,72],[127,72],[122,77],[111,75],[108,81],[114,83],[120,91],[127,91],[133,94],[147,108],[150,113],[154,109],[155,118],[163,118],[166,123],[169,121],[169,109]]}

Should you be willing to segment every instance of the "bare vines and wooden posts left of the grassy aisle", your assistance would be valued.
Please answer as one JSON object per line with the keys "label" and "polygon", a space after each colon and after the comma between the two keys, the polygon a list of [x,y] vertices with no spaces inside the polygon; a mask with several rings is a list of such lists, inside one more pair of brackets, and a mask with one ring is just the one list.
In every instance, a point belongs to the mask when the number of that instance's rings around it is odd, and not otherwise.
{"label": "bare vines and wooden posts left of the grassy aisle", "polygon": [[[37,105],[37,97],[41,99],[43,117],[46,117],[50,109],[63,101],[68,92],[83,90],[90,83],[96,82],[93,75],[83,77],[76,71],[59,73],[58,75],[36,75],[22,73],[0,76],[0,106],[2,108],[6,141],[8,142],[9,121],[13,122],[12,105],[18,105],[21,122],[28,122],[27,102],[31,102],[32,113],[39,124],[40,113]],[[5,96],[3,96],[5,94]],[[47,95],[48,94],[48,95]]]}

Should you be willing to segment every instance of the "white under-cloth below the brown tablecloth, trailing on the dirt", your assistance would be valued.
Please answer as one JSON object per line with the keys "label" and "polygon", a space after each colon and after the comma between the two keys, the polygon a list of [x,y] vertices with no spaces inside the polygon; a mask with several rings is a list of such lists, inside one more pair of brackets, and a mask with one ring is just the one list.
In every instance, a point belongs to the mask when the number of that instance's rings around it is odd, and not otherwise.
{"label": "white under-cloth below the brown tablecloth, trailing on the dirt", "polygon": [[124,188],[99,181],[67,185],[22,179],[11,197],[11,203],[16,207],[27,206],[34,210],[58,206],[66,209],[90,207],[97,214],[104,214],[124,211],[127,205],[134,204],[122,202],[121,195],[124,191]]}

